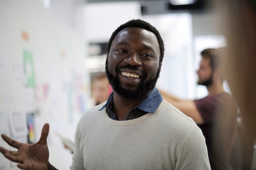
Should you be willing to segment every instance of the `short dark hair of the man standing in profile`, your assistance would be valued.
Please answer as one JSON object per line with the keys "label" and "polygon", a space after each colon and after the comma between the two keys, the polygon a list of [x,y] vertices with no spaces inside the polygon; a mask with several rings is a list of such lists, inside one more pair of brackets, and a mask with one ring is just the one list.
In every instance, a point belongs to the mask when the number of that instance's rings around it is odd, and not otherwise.
{"label": "short dark hair of the man standing in profile", "polygon": [[[220,49],[204,49],[201,51],[200,55],[203,58],[209,58],[210,59],[210,66],[212,68],[212,71],[215,71],[216,68],[220,67],[222,69],[222,64],[221,64],[221,57],[223,57],[223,52],[225,48],[220,48]],[[225,80],[223,71],[220,75],[220,80],[223,82]]]}

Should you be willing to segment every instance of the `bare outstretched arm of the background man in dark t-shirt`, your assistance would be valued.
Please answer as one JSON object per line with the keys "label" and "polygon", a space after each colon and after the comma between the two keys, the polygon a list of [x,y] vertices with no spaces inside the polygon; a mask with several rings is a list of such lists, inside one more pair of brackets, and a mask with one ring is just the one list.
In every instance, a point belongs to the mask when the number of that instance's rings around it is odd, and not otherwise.
{"label": "bare outstretched arm of the background man in dark t-shirt", "polygon": [[159,90],[161,93],[162,97],[170,104],[175,106],[177,109],[182,111],[185,115],[188,117],[191,117],[196,124],[203,124],[204,120],[199,113],[198,109],[195,106],[195,103],[193,100],[182,100],[170,93],[166,93],[164,91]]}

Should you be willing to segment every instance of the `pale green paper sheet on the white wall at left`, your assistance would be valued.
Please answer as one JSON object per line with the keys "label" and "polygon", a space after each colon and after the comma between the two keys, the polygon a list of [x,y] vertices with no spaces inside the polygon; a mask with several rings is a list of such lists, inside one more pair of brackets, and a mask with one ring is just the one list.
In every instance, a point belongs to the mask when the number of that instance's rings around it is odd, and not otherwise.
{"label": "pale green paper sheet on the white wall at left", "polygon": [[24,50],[23,51],[23,60],[24,60],[24,69],[25,74],[27,75],[27,86],[35,87],[35,71],[34,71],[34,63],[31,52]]}

